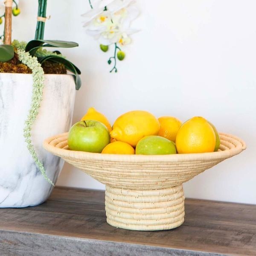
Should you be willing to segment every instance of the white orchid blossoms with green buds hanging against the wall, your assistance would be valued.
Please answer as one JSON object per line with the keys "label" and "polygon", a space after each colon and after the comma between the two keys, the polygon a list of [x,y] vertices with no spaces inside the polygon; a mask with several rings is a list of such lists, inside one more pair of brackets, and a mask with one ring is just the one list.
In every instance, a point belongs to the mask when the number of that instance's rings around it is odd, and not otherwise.
{"label": "white orchid blossoms with green buds hanging against the wall", "polygon": [[88,35],[99,42],[100,49],[107,52],[110,45],[114,45],[114,53],[108,59],[108,64],[113,62],[110,72],[117,72],[116,58],[122,61],[125,52],[122,47],[131,44],[131,35],[138,32],[131,28],[131,22],[139,15],[135,0],[98,0],[92,5],[91,10],[84,13],[84,28]]}

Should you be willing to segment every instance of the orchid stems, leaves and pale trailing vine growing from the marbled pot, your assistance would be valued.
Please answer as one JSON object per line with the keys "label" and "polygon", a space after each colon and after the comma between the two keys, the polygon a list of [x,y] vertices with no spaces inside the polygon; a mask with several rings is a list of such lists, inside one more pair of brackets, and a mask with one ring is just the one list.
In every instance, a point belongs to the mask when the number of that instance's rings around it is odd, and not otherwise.
{"label": "orchid stems, leaves and pale trailing vine growing from the marbled pot", "polygon": [[35,40],[29,41],[29,43],[13,41],[12,42],[12,15],[17,16],[20,13],[18,8],[18,0],[0,0],[5,5],[3,14],[0,16],[0,23],[4,18],[4,35],[2,36],[4,43],[0,45],[0,62],[9,62],[24,64],[32,71],[33,88],[32,88],[32,101],[31,108],[29,110],[25,127],[23,129],[23,136],[25,138],[27,148],[32,155],[38,168],[41,170],[44,178],[51,183],[52,181],[47,177],[44,166],[39,160],[35,151],[34,145],[31,140],[32,125],[35,121],[40,103],[43,96],[44,88],[44,70],[42,64],[50,62],[53,64],[61,64],[67,70],[71,71],[75,75],[76,89],[81,86],[81,79],[79,74],[80,70],[70,61],[68,61],[59,51],[46,51],[43,47],[76,47],[78,44],[74,42],[59,41],[59,40],[44,40],[44,24],[47,20],[46,9],[47,0],[38,0],[38,17],[37,26],[35,32]]}

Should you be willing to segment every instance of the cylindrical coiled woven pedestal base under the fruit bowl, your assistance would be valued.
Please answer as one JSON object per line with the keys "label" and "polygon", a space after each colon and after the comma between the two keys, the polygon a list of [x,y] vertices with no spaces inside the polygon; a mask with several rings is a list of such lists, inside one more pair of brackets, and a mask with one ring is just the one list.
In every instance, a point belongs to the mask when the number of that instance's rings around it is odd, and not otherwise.
{"label": "cylindrical coiled woven pedestal base under the fruit bowl", "polygon": [[128,230],[169,230],[184,222],[183,186],[135,190],[106,185],[107,222]]}

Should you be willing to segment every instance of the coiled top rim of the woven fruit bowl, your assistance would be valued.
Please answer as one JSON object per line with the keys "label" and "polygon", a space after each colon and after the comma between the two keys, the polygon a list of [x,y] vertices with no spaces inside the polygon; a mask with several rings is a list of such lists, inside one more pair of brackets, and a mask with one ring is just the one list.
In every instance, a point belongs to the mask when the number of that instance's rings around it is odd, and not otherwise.
{"label": "coiled top rim of the woven fruit bowl", "polygon": [[[59,157],[71,157],[77,160],[99,160],[115,162],[188,162],[202,160],[221,160],[233,157],[246,149],[246,144],[239,137],[231,134],[219,133],[221,146],[223,143],[230,144],[230,148],[217,152],[192,153],[192,154],[169,154],[169,155],[136,155],[136,154],[100,154],[84,151],[73,151],[67,148],[68,132],[57,134],[44,140],[44,148]],[[60,146],[61,145],[61,146]],[[64,148],[66,147],[66,148]]]}

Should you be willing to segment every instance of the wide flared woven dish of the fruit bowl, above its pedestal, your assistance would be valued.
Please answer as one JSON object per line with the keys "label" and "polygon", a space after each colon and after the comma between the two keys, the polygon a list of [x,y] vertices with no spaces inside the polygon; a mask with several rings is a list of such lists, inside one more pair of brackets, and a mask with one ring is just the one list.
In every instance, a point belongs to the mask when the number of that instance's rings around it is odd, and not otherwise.
{"label": "wide flared woven dish of the fruit bowl, above its pedestal", "polygon": [[218,152],[198,154],[146,156],[71,151],[67,146],[67,133],[45,140],[44,147],[108,186],[169,189],[245,149],[245,143],[233,135],[220,134],[220,138]]}

